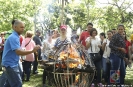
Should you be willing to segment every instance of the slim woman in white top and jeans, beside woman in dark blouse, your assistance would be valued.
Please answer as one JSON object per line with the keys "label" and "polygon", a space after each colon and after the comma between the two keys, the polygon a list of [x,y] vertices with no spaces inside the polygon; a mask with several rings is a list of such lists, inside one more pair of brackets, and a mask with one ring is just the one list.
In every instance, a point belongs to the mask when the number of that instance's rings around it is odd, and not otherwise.
{"label": "slim woman in white top and jeans, beside woman in dark blouse", "polygon": [[112,31],[107,31],[107,39],[104,39],[103,44],[102,44],[102,50],[103,50],[103,58],[102,58],[102,67],[103,67],[103,78],[105,83],[108,82],[109,79],[109,57],[110,57],[110,52],[111,49],[109,48],[109,43],[110,40],[113,36]]}

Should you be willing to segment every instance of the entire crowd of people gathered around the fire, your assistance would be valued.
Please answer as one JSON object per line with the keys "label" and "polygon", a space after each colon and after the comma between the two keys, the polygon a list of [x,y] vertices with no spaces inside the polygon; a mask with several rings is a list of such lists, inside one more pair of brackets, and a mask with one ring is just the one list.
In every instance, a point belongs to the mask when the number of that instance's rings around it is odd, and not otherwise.
{"label": "entire crowd of people gathered around the fire", "polygon": [[[24,28],[22,21],[13,20],[11,34],[5,39],[1,33],[0,49],[3,68],[1,77],[5,78],[5,82],[2,86],[0,83],[0,87],[22,87],[25,74],[26,81],[30,79],[31,65],[33,65],[33,74],[38,73],[38,60],[48,59],[51,50],[56,50],[63,43],[68,42],[82,46],[92,59],[96,74],[91,87],[95,87],[95,82],[99,87],[104,87],[102,79],[105,84],[114,84],[115,81],[111,82],[111,70],[119,73],[120,80],[117,84],[121,87],[124,85],[126,67],[133,59],[133,35],[131,35],[131,41],[128,41],[124,25],[118,25],[117,29],[97,36],[97,29],[93,28],[92,23],[88,23],[85,31],[80,35],[73,33],[71,38],[67,37],[67,26],[61,25],[59,31],[57,29],[50,31],[52,34],[49,33],[44,41],[41,41],[40,31],[36,31],[34,37],[31,31],[27,31],[22,38]],[[43,87],[46,87],[47,74],[44,70]]]}

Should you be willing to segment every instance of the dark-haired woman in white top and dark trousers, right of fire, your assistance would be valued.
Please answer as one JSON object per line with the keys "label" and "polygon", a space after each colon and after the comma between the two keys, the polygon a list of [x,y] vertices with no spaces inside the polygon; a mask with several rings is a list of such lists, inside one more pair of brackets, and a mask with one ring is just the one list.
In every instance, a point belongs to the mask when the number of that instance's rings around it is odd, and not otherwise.
{"label": "dark-haired woman in white top and dark trousers, right of fire", "polygon": [[[101,47],[101,43],[100,40],[96,37],[97,35],[97,30],[95,28],[93,28],[90,31],[90,37],[88,37],[86,39],[86,48],[88,49],[88,53],[90,54],[90,57],[93,58],[93,55],[97,55],[100,52],[100,47]],[[101,56],[99,55],[99,57],[101,58]],[[96,77],[96,82],[98,83],[99,87],[102,87],[102,83],[101,83],[101,79],[102,79],[102,61],[97,60],[97,61],[93,61],[96,67],[96,72],[97,72],[97,76]],[[94,87],[94,80],[93,83],[91,85],[91,87]]]}

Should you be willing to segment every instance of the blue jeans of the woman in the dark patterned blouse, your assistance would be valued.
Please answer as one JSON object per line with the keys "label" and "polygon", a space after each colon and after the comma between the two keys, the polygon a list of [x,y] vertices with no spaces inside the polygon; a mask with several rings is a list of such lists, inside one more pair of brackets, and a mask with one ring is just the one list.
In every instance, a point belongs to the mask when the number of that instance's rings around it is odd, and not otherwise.
{"label": "blue jeans of the woman in the dark patterned blouse", "polygon": [[[110,54],[111,70],[120,70],[120,83],[124,84],[125,78],[125,62],[123,58],[111,53]],[[109,81],[110,83],[110,81]]]}

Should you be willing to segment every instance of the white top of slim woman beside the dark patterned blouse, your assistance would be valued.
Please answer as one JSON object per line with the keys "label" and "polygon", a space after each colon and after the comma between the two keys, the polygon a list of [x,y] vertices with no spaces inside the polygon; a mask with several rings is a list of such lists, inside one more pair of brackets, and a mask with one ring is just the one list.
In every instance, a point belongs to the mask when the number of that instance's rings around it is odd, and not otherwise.
{"label": "white top of slim woman beside the dark patterned blouse", "polygon": [[104,39],[103,43],[107,43],[105,46],[105,49],[104,49],[103,57],[108,58],[108,57],[110,57],[110,52],[111,52],[111,49],[109,47],[110,41],[108,39]]}

